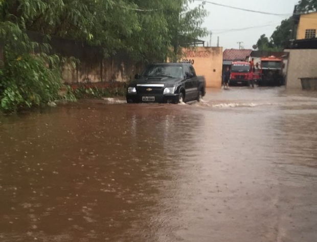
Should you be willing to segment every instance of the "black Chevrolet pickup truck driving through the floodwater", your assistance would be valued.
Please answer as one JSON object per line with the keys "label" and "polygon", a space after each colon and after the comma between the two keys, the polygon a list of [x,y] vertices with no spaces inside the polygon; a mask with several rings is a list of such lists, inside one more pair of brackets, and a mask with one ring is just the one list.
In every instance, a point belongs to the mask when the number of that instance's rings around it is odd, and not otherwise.
{"label": "black Chevrolet pickup truck driving through the floodwater", "polygon": [[188,63],[148,65],[127,87],[127,103],[182,103],[201,101],[206,94],[206,81],[196,76]]}

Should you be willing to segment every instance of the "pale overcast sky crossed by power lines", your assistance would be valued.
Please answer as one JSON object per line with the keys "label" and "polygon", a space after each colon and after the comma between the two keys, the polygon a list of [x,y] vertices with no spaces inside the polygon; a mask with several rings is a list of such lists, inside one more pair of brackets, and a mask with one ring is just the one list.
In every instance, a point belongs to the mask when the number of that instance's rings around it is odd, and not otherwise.
{"label": "pale overcast sky crossed by power lines", "polygon": [[[205,19],[203,27],[212,31],[212,46],[217,45],[217,36],[219,36],[220,46],[225,49],[239,49],[238,41],[242,41],[244,49],[252,49],[262,34],[270,37],[281,21],[292,15],[294,6],[298,0],[207,0],[209,2],[229,5],[238,8],[245,8],[255,11],[288,14],[283,16],[266,15],[260,13],[245,12],[206,3],[205,9],[209,16]],[[201,2],[195,2],[191,7],[197,6]],[[231,29],[248,30],[231,31]],[[210,42],[210,36],[203,38]],[[205,46],[207,44],[205,43]]]}

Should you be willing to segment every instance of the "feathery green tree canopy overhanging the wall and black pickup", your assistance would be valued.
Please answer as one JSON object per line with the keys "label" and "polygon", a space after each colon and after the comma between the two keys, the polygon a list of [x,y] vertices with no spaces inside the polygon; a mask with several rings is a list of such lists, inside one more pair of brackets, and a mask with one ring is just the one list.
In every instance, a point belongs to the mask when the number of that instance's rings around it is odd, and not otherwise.
{"label": "feathery green tree canopy overhanging the wall and black pickup", "polygon": [[[103,46],[104,55],[128,52],[135,61],[167,56],[206,36],[207,12],[193,0],[4,0],[4,21],[20,29]],[[1,11],[0,11],[1,12]],[[172,49],[172,53],[169,53]]]}

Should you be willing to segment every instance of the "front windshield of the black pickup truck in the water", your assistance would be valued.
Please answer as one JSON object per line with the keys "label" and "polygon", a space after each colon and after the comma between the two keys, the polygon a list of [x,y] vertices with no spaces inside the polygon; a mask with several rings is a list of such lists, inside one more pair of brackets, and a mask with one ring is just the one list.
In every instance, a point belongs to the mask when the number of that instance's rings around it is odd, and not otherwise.
{"label": "front windshield of the black pickup truck in the water", "polygon": [[141,76],[184,78],[183,67],[181,65],[149,65]]}

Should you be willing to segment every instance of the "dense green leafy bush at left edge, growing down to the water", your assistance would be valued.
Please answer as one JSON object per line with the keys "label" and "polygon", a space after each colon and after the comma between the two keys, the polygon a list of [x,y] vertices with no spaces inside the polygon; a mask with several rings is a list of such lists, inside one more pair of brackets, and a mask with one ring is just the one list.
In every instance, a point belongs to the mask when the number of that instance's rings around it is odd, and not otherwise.
{"label": "dense green leafy bush at left edge, growing down to the water", "polygon": [[41,107],[58,99],[62,86],[61,62],[56,55],[46,54],[47,44],[30,41],[19,25],[0,22],[0,40],[5,49],[0,76],[0,111]]}

